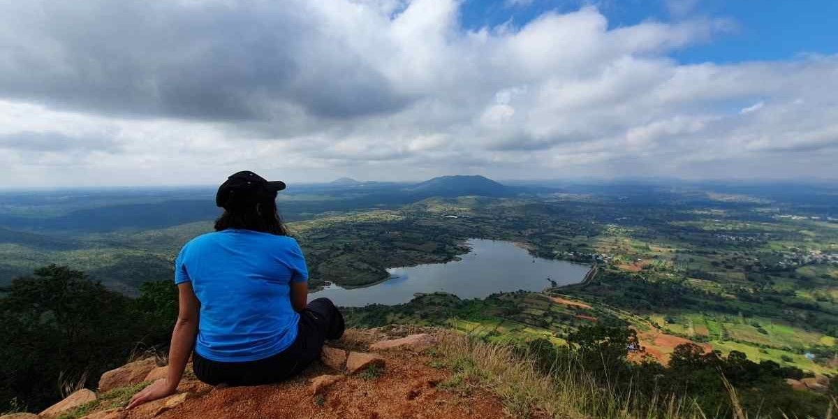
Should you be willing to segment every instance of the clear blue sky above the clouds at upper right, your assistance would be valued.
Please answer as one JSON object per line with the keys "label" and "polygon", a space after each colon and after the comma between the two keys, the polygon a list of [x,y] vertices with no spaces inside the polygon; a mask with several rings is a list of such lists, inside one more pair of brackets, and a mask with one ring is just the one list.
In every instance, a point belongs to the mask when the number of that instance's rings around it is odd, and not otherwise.
{"label": "clear blue sky above the clouds at upper right", "polygon": [[798,54],[838,53],[836,0],[465,0],[464,28],[510,21],[525,25],[541,13],[567,13],[584,5],[597,7],[608,26],[631,26],[646,20],[678,22],[696,18],[729,18],[732,30],[706,44],[671,56],[683,63],[737,63],[793,59]]}

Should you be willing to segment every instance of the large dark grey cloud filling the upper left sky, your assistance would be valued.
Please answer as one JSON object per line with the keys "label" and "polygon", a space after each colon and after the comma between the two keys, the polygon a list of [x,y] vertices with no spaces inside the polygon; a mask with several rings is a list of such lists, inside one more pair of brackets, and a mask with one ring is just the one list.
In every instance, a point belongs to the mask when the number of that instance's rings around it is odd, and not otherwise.
{"label": "large dark grey cloud filling the upper left sky", "polygon": [[[347,118],[410,97],[306,3],[3,3],[0,96],[65,109],[202,120]],[[279,114],[277,115],[277,112]]]}

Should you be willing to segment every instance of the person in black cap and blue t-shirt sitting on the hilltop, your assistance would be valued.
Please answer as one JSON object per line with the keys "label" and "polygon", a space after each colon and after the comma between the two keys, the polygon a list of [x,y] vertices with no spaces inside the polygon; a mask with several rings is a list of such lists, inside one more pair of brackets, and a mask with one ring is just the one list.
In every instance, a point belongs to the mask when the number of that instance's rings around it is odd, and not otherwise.
{"label": "person in black cap and blue t-shirt sitting on the hilltop", "polygon": [[277,214],[285,184],[253,172],[231,175],[215,204],[215,232],[189,241],[174,262],[179,311],[168,375],[132,397],[128,408],[175,392],[192,354],[209,385],[262,385],[297,375],[344,334],[327,298],[308,299],[303,251]]}

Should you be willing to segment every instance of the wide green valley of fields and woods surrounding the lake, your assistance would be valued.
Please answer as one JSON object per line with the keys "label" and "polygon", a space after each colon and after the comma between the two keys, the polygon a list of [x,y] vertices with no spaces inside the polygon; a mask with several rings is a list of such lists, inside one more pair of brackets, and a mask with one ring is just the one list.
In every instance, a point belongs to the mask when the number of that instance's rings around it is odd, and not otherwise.
{"label": "wide green valley of fields and woods surrounding the lake", "polygon": [[[528,184],[485,196],[491,184],[468,189],[469,179],[457,180],[427,188],[301,186],[282,195],[278,204],[307,257],[312,292],[377,284],[394,268],[458,261],[467,257],[469,239],[506,241],[528,258],[584,264],[582,276],[594,263],[597,275],[546,292],[385,300],[349,308],[350,323],[448,325],[490,340],[543,337],[557,344],[583,325],[623,325],[639,333],[645,350],[638,356],[660,362],[676,344],[694,342],[811,373],[838,371],[834,190]],[[194,204],[211,193],[125,194],[118,208],[73,199],[51,206],[55,199],[43,196],[24,204],[7,195],[0,217],[3,281],[49,263],[84,270],[128,295],[142,282],[170,281],[180,246],[212,228],[211,200]],[[22,208],[39,209],[42,218],[12,222]],[[163,208],[177,219],[149,215]],[[101,223],[78,221],[79,211]]]}

